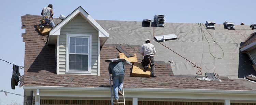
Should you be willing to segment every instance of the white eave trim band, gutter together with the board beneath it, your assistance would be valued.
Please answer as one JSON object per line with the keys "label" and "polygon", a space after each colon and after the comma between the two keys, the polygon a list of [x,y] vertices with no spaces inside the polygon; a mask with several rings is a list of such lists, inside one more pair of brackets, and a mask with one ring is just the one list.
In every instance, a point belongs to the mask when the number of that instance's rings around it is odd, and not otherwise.
{"label": "white eave trim band, gutter together with the board beneath it", "polygon": [[[24,90],[40,90],[40,96],[44,97],[109,97],[110,88],[101,87],[46,87],[24,86]],[[156,98],[193,100],[230,100],[230,102],[247,101],[256,103],[256,91],[242,90],[203,90],[203,89],[157,89],[157,88],[124,88],[126,98]],[[160,98],[160,99],[157,99]],[[164,100],[162,100],[164,101]]]}

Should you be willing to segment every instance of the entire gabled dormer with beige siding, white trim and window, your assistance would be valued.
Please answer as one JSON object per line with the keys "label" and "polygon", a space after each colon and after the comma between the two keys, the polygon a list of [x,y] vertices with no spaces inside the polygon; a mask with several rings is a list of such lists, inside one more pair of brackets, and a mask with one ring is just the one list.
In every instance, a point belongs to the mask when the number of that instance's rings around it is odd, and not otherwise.
{"label": "entire gabled dormer with beige siding, white trim and window", "polygon": [[80,6],[49,32],[55,44],[57,74],[100,75],[100,47],[109,38]]}

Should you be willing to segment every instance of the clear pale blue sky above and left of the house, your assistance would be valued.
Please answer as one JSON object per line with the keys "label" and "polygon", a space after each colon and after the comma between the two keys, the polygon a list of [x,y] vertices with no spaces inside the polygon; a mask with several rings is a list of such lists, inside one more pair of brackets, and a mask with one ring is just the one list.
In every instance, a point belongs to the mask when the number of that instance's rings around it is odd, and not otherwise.
{"label": "clear pale blue sky above and left of the house", "polygon": [[[96,20],[142,21],[154,15],[165,15],[166,22],[217,24],[256,24],[255,0],[2,0],[0,3],[0,59],[24,66],[24,48],[21,34],[21,16],[41,15],[43,7],[53,4],[54,17],[68,16],[82,6]],[[12,65],[0,61],[0,90],[23,94],[23,87],[11,89]],[[20,73],[24,74],[24,69]],[[23,97],[0,92],[0,105],[17,102]]]}

